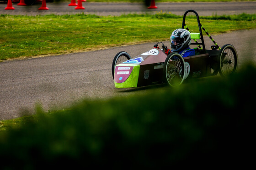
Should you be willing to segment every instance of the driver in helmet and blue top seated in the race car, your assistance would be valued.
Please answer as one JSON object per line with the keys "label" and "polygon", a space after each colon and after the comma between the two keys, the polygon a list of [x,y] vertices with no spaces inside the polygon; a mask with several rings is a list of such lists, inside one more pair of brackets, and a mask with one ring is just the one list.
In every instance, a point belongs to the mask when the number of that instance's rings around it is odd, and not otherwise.
{"label": "driver in helmet and blue top seated in the race car", "polygon": [[195,50],[189,48],[190,44],[191,36],[189,31],[176,29],[172,32],[170,37],[171,50],[165,50],[165,54],[169,55],[171,52],[178,52],[183,58],[195,55]]}

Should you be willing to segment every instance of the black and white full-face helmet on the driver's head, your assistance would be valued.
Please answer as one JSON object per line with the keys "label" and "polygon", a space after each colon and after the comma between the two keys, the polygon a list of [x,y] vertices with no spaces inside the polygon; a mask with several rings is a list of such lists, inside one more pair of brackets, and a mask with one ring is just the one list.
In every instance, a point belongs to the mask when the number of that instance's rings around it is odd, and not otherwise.
{"label": "black and white full-face helmet on the driver's head", "polygon": [[186,49],[191,44],[189,31],[185,29],[174,30],[170,37],[171,50],[173,52]]}

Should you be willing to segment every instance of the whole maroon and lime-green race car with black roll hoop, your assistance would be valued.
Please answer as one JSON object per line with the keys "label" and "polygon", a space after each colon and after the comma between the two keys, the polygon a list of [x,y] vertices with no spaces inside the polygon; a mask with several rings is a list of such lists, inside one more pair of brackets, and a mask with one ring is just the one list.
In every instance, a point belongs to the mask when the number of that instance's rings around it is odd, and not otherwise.
{"label": "whole maroon and lime-green race car with black roll hoop", "polygon": [[[193,12],[197,16],[199,33],[191,33],[185,24],[186,15]],[[158,42],[155,48],[134,58],[125,52],[117,53],[112,62],[112,76],[116,88],[141,87],[160,83],[171,86],[181,85],[183,80],[217,75],[234,74],[238,66],[238,56],[235,47],[229,44],[220,48],[201,25],[199,16],[194,10],[187,10],[183,16],[182,28],[190,32],[191,39],[197,45],[196,54],[183,58],[179,53],[165,55],[164,43]],[[205,49],[202,30],[206,32],[214,45],[211,50]],[[200,42],[198,42],[199,40]],[[162,49],[158,47],[162,44]],[[202,47],[201,47],[202,45]]]}

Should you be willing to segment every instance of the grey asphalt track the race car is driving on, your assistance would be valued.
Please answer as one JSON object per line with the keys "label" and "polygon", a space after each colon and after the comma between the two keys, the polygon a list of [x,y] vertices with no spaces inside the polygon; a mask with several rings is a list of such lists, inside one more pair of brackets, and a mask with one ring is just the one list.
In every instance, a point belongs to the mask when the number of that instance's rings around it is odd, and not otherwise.
{"label": "grey asphalt track the race car is driving on", "polygon": [[[197,12],[203,13],[198,10]],[[235,46],[239,55],[239,69],[246,62],[256,62],[256,29],[215,35],[213,38],[219,46],[224,44]],[[204,39],[207,49],[213,45],[208,37]],[[111,73],[114,56],[119,51],[126,51],[135,57],[151,49],[154,44],[155,42],[1,62],[0,120],[16,118],[24,113],[32,114],[36,103],[40,103],[47,111],[68,107],[84,98],[94,100],[112,96],[125,97],[158,88],[168,88],[155,86],[154,88],[116,89],[114,87]],[[168,42],[165,44],[168,45]]]}

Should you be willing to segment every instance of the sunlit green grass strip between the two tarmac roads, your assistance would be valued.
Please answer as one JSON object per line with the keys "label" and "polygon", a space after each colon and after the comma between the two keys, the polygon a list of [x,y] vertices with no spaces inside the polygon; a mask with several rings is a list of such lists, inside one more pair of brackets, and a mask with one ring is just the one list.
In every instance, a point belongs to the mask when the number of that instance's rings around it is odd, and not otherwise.
{"label": "sunlit green grass strip between the two tarmac roads", "polygon": [[[201,17],[211,35],[256,28],[256,15]],[[168,40],[180,28],[182,16],[155,15],[0,15],[0,60],[58,55],[113,46]],[[186,20],[197,31],[194,17]],[[145,31],[146,30],[146,31]]]}

